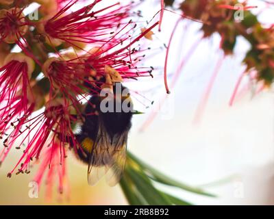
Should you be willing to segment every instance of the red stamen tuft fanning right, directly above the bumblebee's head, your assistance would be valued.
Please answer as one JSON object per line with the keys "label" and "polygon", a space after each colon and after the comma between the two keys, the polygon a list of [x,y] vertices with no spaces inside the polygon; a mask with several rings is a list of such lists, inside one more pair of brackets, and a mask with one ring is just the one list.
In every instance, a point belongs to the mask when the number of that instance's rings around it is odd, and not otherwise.
{"label": "red stamen tuft fanning right, directly above the bumblebee's head", "polygon": [[[121,36],[119,40],[115,39],[114,42],[106,42],[101,47],[94,47],[86,54],[71,60],[65,60],[65,56],[69,55],[49,58],[42,70],[51,82],[50,96],[54,96],[55,90],[58,90],[62,96],[71,100],[78,111],[79,100],[77,97],[82,96],[82,99],[85,99],[84,94],[98,93],[100,86],[105,82],[100,81],[100,78],[105,77],[106,74],[121,75],[122,79],[151,77],[151,67],[137,66],[138,62],[145,57],[143,54],[145,51],[132,47],[157,24],[155,23],[149,29],[142,31],[131,42],[129,36]],[[128,44],[121,47],[121,44],[127,41],[129,41]]]}

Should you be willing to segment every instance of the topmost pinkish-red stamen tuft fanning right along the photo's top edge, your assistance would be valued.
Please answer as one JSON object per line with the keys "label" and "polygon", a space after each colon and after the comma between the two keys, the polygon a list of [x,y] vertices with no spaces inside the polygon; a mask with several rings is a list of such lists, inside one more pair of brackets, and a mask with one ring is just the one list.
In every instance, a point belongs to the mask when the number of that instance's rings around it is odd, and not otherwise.
{"label": "topmost pinkish-red stamen tuft fanning right along the photo's top edge", "polygon": [[[106,42],[114,27],[121,25],[123,19],[129,16],[129,5],[114,3],[100,10],[93,10],[100,1],[96,0],[68,14],[68,10],[77,2],[71,1],[52,18],[45,17],[38,24],[38,29],[41,34],[45,34],[47,42],[54,46],[67,42],[79,48],[79,43]],[[105,11],[108,13],[103,14]]]}

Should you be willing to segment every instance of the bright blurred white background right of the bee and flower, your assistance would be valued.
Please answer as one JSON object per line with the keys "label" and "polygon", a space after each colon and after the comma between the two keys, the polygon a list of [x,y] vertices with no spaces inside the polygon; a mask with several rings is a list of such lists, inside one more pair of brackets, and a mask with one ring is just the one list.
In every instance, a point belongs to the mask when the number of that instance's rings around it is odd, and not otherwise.
{"label": "bright blurred white background right of the bee and flower", "polygon": [[[153,3],[147,8],[153,8],[152,5]],[[254,13],[260,12],[265,6],[262,1],[249,1],[249,5],[258,5],[253,10]],[[146,16],[153,14],[149,10]],[[164,13],[163,31],[157,34],[160,42],[169,42],[177,18],[177,15],[170,12]],[[271,23],[273,8],[264,10],[259,18],[263,23]],[[199,27],[199,23],[186,20],[177,27],[169,55],[169,83],[176,71],[175,66],[178,66],[192,44],[199,41]],[[196,51],[182,69],[175,88],[171,90],[168,97],[171,101],[166,101],[164,108],[171,112],[174,110],[174,115],[165,120],[166,111],[160,112],[142,133],[132,130],[129,149],[166,174],[190,185],[206,185],[221,179],[226,181],[204,187],[218,198],[205,198],[173,190],[192,203],[273,205],[273,92],[265,89],[254,94],[254,86],[249,83],[249,77],[245,76],[234,105],[229,107],[229,99],[238,77],[245,68],[241,61],[249,44],[244,39],[238,38],[235,55],[225,58],[201,120],[193,123],[197,106],[208,87],[214,67],[222,56],[218,49],[219,42],[217,35],[199,42]],[[162,66],[164,57],[154,62],[155,66]],[[160,85],[155,96],[164,96],[162,76],[152,81],[148,86]],[[147,115],[135,116],[135,130],[142,126],[145,118]],[[227,177],[229,180],[225,180]]]}

